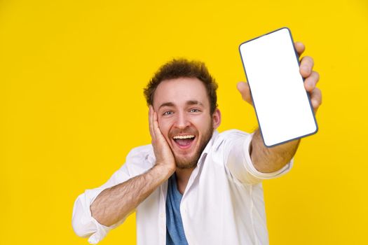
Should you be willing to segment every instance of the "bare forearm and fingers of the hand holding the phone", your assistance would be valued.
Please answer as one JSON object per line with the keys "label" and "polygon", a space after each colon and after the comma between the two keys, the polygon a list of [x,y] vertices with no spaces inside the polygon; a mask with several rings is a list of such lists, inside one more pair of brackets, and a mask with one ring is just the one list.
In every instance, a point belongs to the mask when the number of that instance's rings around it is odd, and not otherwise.
{"label": "bare forearm and fingers of the hand holding the phone", "polygon": [[[299,56],[304,52],[304,44],[296,42],[295,48],[299,53]],[[322,103],[322,93],[315,87],[316,83],[320,79],[319,74],[313,71],[313,59],[311,57],[303,57],[299,66],[301,76],[305,78],[304,87],[306,91],[311,94],[311,102],[315,113],[318,107]],[[240,82],[237,85],[240,94],[243,99],[252,104],[252,98],[250,96],[250,87],[247,83]],[[289,160],[292,159],[294,154],[297,152],[300,139],[289,141],[285,144],[273,146],[267,148],[264,146],[264,142],[261,139],[259,129],[253,134],[252,143],[250,146],[250,157],[252,159],[254,167],[259,172],[270,173],[275,172],[278,169],[284,167]]]}

